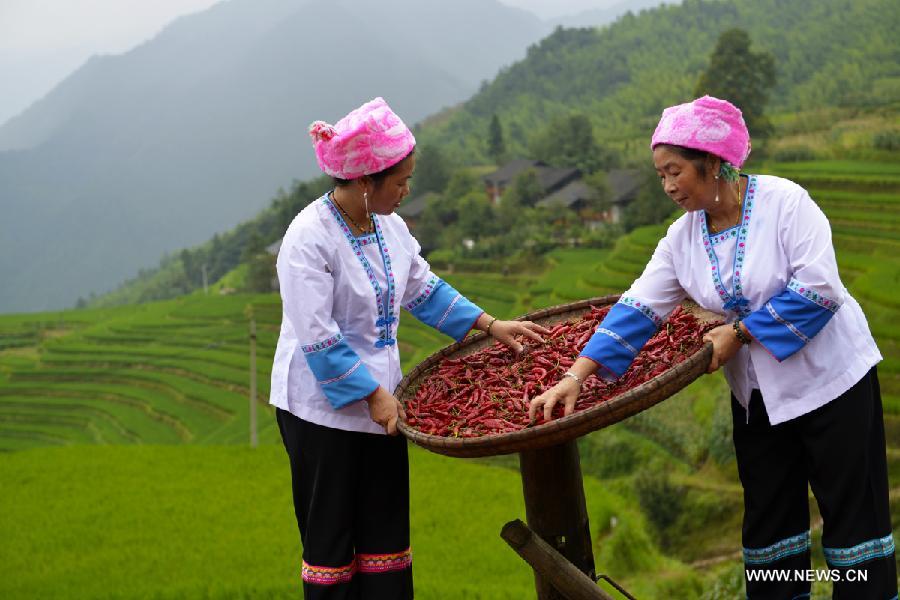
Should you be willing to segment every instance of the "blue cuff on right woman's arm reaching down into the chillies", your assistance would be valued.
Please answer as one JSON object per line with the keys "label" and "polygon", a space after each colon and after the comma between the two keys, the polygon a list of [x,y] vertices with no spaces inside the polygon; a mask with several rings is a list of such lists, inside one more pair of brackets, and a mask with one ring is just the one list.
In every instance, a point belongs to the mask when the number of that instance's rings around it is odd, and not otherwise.
{"label": "blue cuff on right woman's arm reaching down into the chillies", "polygon": [[618,302],[609,310],[600,327],[588,340],[581,356],[601,366],[598,374],[616,379],[625,374],[634,358],[658,326],[640,308]]}

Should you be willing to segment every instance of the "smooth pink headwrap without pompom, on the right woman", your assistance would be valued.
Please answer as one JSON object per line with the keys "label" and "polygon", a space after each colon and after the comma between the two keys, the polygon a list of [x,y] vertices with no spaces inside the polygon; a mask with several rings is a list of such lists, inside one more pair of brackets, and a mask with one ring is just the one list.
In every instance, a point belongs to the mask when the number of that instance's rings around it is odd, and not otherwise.
{"label": "smooth pink headwrap without pompom, on the right woman", "polygon": [[738,169],[750,156],[750,132],[741,110],[727,100],[712,96],[664,110],[653,132],[650,149],[659,144],[710,152]]}

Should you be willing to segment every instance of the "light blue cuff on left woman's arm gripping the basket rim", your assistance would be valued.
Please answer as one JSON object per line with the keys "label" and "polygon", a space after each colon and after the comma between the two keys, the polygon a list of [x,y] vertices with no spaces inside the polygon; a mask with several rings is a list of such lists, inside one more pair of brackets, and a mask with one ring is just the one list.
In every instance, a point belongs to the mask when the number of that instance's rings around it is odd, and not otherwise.
{"label": "light blue cuff on left woman's arm gripping the basket rim", "polygon": [[306,363],[335,409],[362,400],[378,387],[378,382],[341,334],[302,349]]}

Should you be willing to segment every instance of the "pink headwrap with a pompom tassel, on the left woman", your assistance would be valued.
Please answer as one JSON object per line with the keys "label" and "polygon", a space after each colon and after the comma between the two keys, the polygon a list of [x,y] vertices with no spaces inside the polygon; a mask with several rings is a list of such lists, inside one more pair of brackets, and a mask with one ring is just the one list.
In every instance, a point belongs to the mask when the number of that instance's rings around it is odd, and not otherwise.
{"label": "pink headwrap with a pompom tassel, on the left woman", "polygon": [[416,145],[412,132],[383,98],[366,102],[334,125],[315,121],[309,135],[319,168],[340,179],[392,167]]}

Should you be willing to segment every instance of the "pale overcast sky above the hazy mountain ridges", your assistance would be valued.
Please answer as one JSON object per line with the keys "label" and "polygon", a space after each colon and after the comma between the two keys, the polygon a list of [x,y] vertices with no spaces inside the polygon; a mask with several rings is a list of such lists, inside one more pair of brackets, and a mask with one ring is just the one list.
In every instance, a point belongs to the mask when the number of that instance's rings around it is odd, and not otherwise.
{"label": "pale overcast sky above the hazy mountain ridges", "polygon": [[[220,1],[0,0],[0,125],[46,95],[92,55],[126,52],[175,18]],[[500,1],[551,19],[620,0]]]}

